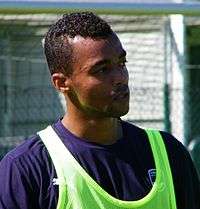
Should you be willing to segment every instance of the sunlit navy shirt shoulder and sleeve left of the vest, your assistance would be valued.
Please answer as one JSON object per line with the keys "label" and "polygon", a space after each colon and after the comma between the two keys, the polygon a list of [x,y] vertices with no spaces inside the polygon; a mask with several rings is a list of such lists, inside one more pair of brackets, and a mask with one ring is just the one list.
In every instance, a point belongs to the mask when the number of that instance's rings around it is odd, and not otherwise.
{"label": "sunlit navy shirt shoulder and sleeve left of the vest", "polygon": [[52,208],[57,198],[57,188],[52,184],[55,176],[40,137],[26,139],[0,162],[0,208],[1,202],[9,208]]}

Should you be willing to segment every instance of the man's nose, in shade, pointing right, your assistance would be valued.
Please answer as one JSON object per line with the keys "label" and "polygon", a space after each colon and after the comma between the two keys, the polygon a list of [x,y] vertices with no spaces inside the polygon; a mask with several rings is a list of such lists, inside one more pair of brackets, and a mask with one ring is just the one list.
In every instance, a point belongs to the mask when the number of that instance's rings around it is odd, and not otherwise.
{"label": "man's nose, in shade, pointing right", "polygon": [[115,66],[113,70],[113,84],[128,84],[129,75],[126,66]]}

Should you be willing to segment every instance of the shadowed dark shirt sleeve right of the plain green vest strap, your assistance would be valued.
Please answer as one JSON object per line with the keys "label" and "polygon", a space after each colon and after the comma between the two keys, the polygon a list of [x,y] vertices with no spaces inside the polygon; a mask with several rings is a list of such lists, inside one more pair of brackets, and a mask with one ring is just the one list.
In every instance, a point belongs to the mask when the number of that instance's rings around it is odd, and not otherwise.
{"label": "shadowed dark shirt sleeve right of the plain green vest strap", "polygon": [[200,208],[200,181],[186,147],[167,133],[164,135],[174,182],[177,209]]}

